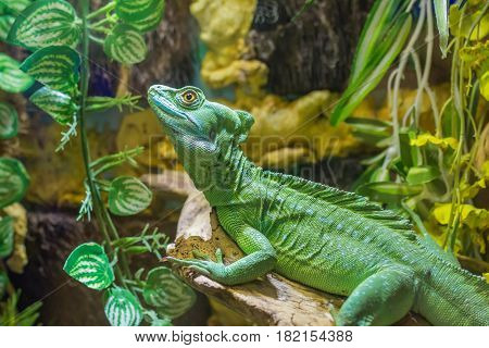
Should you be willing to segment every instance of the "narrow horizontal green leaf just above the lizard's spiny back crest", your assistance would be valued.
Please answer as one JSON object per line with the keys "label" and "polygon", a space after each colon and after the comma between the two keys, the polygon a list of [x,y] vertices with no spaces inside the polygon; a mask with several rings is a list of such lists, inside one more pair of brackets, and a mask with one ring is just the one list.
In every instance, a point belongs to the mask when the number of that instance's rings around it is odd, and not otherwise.
{"label": "narrow horizontal green leaf just above the lizard's spiny back crest", "polygon": [[408,184],[379,182],[369,183],[359,187],[358,192],[369,197],[372,200],[385,203],[399,203],[405,197],[421,194],[423,186]]}

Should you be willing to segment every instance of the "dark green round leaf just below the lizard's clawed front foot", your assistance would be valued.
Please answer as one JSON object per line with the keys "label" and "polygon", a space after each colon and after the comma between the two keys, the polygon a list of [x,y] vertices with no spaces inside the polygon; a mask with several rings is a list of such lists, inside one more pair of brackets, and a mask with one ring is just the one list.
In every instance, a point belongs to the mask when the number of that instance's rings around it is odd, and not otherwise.
{"label": "dark green round leaf just below the lizard's clawed front foot", "polygon": [[163,266],[148,273],[142,297],[149,306],[155,307],[159,314],[168,318],[180,316],[196,301],[193,290]]}

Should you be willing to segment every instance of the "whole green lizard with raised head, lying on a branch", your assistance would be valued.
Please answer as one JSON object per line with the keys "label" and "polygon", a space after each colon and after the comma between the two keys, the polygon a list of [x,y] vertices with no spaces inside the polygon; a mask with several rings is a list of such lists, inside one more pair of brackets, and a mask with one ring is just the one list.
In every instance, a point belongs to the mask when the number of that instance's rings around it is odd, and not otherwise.
{"label": "whole green lizard with raised head, lying on a branch", "polygon": [[348,296],[338,325],[387,325],[410,310],[437,325],[489,325],[489,285],[461,269],[410,222],[366,198],[264,171],[239,144],[253,117],[195,87],[152,86],[149,103],[196,187],[247,254],[225,265],[168,258],[226,285],[274,270]]}

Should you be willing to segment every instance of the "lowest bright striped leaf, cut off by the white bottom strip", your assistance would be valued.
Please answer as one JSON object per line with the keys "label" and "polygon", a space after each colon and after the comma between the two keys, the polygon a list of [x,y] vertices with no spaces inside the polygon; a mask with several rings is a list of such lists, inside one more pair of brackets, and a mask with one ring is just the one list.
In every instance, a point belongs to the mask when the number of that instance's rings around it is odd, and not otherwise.
{"label": "lowest bright striped leaf, cut off by the white bottom strip", "polygon": [[138,326],[142,320],[142,308],[137,297],[120,287],[109,290],[104,310],[112,326]]}

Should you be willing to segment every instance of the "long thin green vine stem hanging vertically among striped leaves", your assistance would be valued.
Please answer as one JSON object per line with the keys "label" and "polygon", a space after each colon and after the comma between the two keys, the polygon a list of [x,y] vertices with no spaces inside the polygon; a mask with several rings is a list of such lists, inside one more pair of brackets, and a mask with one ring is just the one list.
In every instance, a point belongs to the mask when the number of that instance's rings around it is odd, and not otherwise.
{"label": "long thin green vine stem hanging vertically among striped leaves", "polygon": [[[87,114],[87,98],[88,98],[88,84],[90,80],[90,64],[89,64],[89,54],[90,54],[90,33],[88,27],[88,13],[89,13],[89,0],[80,1],[80,14],[82,14],[82,23],[83,23],[83,33],[82,33],[82,77],[80,77],[80,97],[79,97],[79,111],[78,111],[78,123],[79,123],[79,133],[80,133],[80,141],[82,141],[82,153],[84,159],[85,172],[87,175],[87,184],[91,192],[92,202],[93,202],[93,212],[97,220],[97,225],[100,232],[103,235],[103,238],[106,244],[106,248],[109,249],[111,254],[114,254],[114,249],[111,246],[111,237],[108,231],[106,212],[104,214],[104,207],[102,203],[102,199],[100,196],[100,190],[98,189],[93,172],[90,169],[90,149],[88,147],[88,137],[87,129],[85,126],[85,117]],[[118,237],[115,235],[114,237]],[[121,260],[126,263],[126,260]],[[126,274],[126,277],[123,275],[118,265],[115,265],[115,274],[123,286],[125,286],[124,279],[128,276],[130,277],[130,272]],[[124,266],[125,271],[128,270],[128,266]]]}

